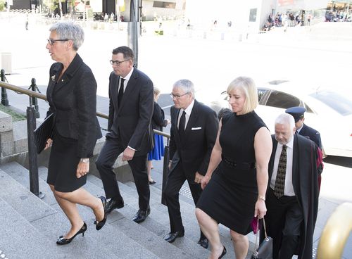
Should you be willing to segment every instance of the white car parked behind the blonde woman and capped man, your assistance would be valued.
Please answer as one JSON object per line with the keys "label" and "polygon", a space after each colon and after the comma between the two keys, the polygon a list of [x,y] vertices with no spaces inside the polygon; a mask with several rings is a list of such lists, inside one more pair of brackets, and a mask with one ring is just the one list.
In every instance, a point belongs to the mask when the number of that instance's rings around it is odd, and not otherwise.
{"label": "white car parked behind the blonde woman and capped man", "polygon": [[[313,89],[303,84],[273,81],[258,85],[259,106],[256,113],[274,133],[275,118],[287,108],[306,108],[305,123],[320,132],[326,155],[352,157],[352,100],[336,91]],[[229,107],[227,93],[218,100],[206,101],[216,112]]]}

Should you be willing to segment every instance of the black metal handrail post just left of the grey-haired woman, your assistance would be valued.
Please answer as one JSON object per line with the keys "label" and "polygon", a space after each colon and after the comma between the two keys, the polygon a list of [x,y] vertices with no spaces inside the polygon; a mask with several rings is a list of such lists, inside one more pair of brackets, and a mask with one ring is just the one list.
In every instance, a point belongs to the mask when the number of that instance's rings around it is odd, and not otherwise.
{"label": "black metal handrail post just left of the grey-haired woman", "polygon": [[34,130],[36,128],[35,111],[30,96],[30,106],[27,106],[27,136],[28,136],[28,162],[30,169],[30,191],[39,198],[44,198],[44,194],[39,191],[37,150],[35,148]]}

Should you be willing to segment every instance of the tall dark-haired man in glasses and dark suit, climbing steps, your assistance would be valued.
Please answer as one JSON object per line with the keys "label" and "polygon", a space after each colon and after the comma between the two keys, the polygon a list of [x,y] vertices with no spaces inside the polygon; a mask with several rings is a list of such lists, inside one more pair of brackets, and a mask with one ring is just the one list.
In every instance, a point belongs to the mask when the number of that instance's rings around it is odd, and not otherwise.
{"label": "tall dark-haired man in glasses and dark suit, climbing steps", "polygon": [[103,181],[107,204],[106,213],[124,206],[113,164],[122,154],[132,170],[139,196],[139,210],[134,222],[143,222],[150,213],[149,181],[146,156],[153,148],[153,82],[133,66],[134,54],[127,46],[113,50],[110,61],[113,72],[109,78],[108,134],[96,160]]}

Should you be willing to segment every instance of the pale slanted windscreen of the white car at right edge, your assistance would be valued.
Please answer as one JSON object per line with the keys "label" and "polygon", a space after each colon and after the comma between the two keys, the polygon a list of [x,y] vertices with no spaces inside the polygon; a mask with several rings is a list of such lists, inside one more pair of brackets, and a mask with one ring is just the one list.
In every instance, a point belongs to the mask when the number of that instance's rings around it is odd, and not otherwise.
{"label": "pale slanted windscreen of the white car at right edge", "polygon": [[322,103],[325,103],[327,106],[336,110],[343,116],[350,115],[352,113],[352,101],[337,93],[332,91],[318,91],[317,93],[310,94],[310,96],[318,99]]}

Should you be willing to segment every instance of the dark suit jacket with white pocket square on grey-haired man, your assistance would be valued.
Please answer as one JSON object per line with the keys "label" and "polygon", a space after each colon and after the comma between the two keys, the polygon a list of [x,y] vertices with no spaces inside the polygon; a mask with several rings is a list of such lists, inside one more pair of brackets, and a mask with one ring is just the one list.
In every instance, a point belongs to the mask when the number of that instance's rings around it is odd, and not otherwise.
{"label": "dark suit jacket with white pocket square on grey-haired man", "polygon": [[[194,179],[196,172],[206,175],[219,122],[214,110],[194,100],[185,137],[181,141],[177,128],[179,113],[180,109],[171,107],[170,158],[172,162],[180,158],[187,178]],[[175,168],[175,163],[172,163],[172,168]]]}

